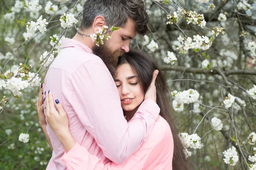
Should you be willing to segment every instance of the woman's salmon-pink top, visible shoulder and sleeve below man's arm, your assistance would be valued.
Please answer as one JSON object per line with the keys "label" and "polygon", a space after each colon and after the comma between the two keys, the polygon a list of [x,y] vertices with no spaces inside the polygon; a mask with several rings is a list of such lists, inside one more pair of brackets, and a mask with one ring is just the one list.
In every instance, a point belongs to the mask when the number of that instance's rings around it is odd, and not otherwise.
{"label": "woman's salmon-pink top, visible shoulder and sleeve below man's arm", "polygon": [[157,119],[148,139],[124,163],[105,163],[78,143],[62,157],[68,170],[172,170],[173,138],[165,119]]}

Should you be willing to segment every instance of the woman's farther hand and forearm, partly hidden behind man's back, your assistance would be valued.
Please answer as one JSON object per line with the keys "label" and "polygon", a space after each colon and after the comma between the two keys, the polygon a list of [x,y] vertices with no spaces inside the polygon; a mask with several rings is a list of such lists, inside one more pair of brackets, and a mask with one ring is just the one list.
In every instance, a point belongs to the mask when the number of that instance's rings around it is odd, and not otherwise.
{"label": "woman's farther hand and forearm, partly hidden behind man's back", "polygon": [[44,135],[47,139],[47,142],[48,142],[51,150],[53,150],[51,140],[50,140],[50,138],[47,134],[47,131],[46,131],[47,122],[46,122],[45,116],[44,116],[44,95],[43,95],[43,91],[44,91],[44,83],[41,84],[41,88],[40,88],[40,91],[39,91],[39,94],[38,94],[38,101],[36,103],[36,108],[37,108],[37,111],[38,111],[39,125],[44,131]]}

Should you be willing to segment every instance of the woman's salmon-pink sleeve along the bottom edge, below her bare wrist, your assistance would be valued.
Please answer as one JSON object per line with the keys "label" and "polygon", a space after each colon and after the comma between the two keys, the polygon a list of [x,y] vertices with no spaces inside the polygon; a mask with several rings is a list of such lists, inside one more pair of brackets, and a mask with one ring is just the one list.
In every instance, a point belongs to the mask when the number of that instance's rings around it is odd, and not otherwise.
{"label": "woman's salmon-pink sleeve along the bottom edge, below her bare wrist", "polygon": [[68,152],[64,153],[61,160],[68,170],[142,170],[143,164],[140,157],[131,155],[122,164],[114,162],[105,163],[103,159],[90,154],[87,149],[78,143]]}

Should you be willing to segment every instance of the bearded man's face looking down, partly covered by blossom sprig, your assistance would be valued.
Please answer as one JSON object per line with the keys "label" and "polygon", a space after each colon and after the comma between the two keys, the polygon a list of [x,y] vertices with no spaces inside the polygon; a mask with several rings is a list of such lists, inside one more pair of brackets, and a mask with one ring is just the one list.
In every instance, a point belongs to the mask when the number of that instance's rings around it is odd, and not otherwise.
{"label": "bearded man's face looking down, partly covered by blossom sprig", "polygon": [[104,41],[104,45],[93,46],[93,53],[103,60],[113,77],[116,74],[118,57],[129,51],[130,41],[136,34],[134,22],[128,19],[124,27],[111,33],[112,38]]}

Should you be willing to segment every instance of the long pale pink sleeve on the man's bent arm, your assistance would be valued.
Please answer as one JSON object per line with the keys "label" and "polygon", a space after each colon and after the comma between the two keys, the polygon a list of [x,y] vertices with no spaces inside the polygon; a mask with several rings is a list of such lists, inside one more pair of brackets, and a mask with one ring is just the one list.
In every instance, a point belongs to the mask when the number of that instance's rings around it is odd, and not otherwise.
{"label": "long pale pink sleeve on the man's bent arm", "polygon": [[64,93],[86,130],[104,155],[121,164],[147,139],[160,112],[146,99],[126,122],[116,85],[107,67],[99,61],[83,63],[72,75]]}

